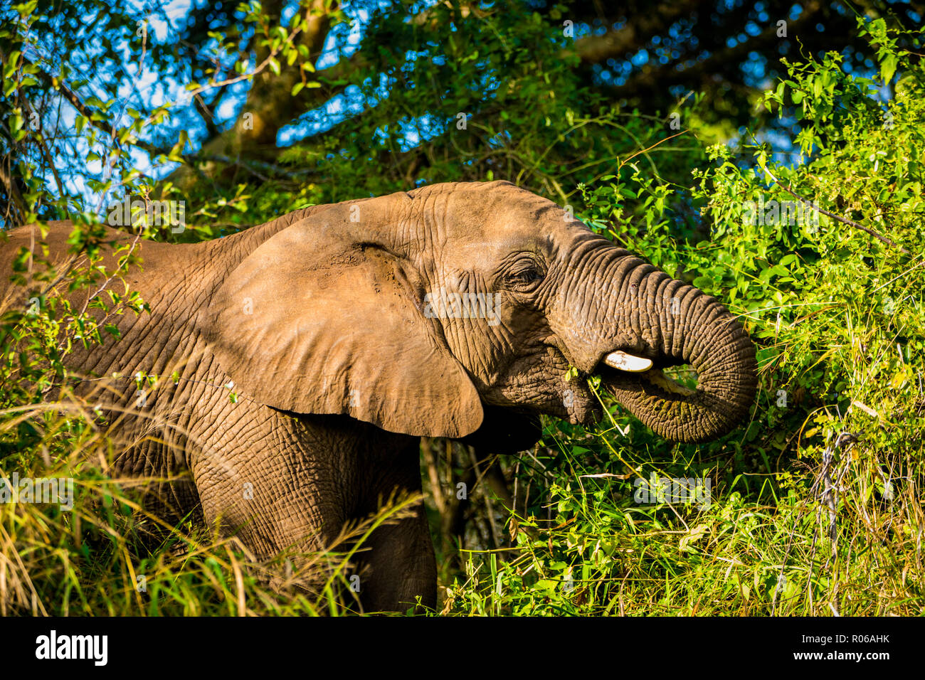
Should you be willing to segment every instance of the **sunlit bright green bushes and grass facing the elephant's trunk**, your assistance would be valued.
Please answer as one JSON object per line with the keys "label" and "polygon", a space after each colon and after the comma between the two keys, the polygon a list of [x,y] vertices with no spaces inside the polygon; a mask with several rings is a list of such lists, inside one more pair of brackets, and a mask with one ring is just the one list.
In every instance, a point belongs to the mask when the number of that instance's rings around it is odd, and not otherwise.
{"label": "sunlit bright green bushes and grass facing the elephant's trunk", "polygon": [[[745,323],[760,365],[750,422],[702,445],[662,441],[613,404],[597,432],[549,423],[542,467],[518,474],[549,497],[515,519],[510,561],[467,553],[448,612],[925,612],[925,69],[882,22],[861,30],[883,80],[900,73],[894,98],[884,106],[878,84],[843,72],[837,55],[787,64],[765,102],[796,115],[800,162],[759,144],[710,147],[689,197],[709,238],[667,209],[680,192],[645,168],[583,188],[587,224]],[[794,194],[855,224],[782,223],[771,202]],[[752,219],[746,202],[759,196],[764,219]],[[633,481],[653,473],[709,477],[709,508],[635,502]]]}

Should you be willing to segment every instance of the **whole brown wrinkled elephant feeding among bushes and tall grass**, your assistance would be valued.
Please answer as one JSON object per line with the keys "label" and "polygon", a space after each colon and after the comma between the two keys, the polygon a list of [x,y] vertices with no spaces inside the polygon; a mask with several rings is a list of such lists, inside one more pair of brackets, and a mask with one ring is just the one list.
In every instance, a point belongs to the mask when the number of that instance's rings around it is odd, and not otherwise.
{"label": "whole brown wrinkled elephant feeding among bushes and tall grass", "polygon": [[[49,229],[63,261],[71,225]],[[9,231],[0,266],[37,239]],[[419,493],[422,437],[511,453],[539,439],[540,414],[594,424],[588,377],[682,442],[728,433],[755,398],[754,345],[721,303],[507,181],[314,205],[138,252],[126,280],[150,312],[121,315],[117,339],[69,365],[124,377],[102,397],[131,444],[117,471],[169,479],[165,508],[261,558],[320,549],[390,494]],[[6,279],[8,304],[23,289]],[[676,365],[696,389],[662,372]],[[133,414],[140,371],[175,379]],[[436,605],[423,503],[367,547],[364,611]]]}

